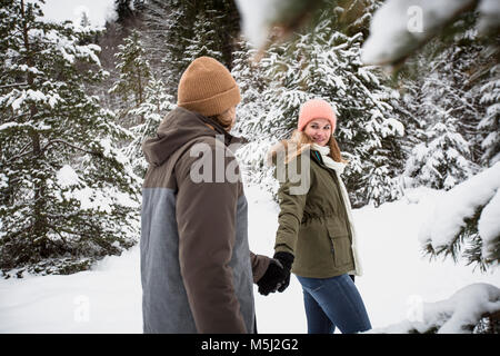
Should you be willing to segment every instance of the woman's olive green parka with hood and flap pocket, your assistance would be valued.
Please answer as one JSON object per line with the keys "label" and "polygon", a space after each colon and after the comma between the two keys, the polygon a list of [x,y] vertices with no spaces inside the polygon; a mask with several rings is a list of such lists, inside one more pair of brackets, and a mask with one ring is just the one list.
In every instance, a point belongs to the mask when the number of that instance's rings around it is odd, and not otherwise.
{"label": "woman's olive green parka with hood and flap pocket", "polygon": [[291,271],[298,276],[359,275],[352,229],[336,171],[309,145],[292,154],[292,158],[288,146],[288,141],[282,141],[271,149],[274,177],[280,182],[274,250],[294,256]]}

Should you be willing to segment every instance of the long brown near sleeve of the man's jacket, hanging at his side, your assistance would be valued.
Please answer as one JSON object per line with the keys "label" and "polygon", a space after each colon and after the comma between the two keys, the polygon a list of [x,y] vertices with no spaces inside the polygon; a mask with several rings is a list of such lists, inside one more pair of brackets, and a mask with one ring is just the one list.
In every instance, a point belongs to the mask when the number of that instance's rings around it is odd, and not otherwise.
{"label": "long brown near sleeve of the man's jacket, hanging at his side", "polygon": [[[199,333],[247,333],[229,266],[239,187],[228,179],[216,180],[216,169],[221,169],[216,167],[216,155],[223,157],[224,172],[236,158],[216,154],[219,149],[223,148],[210,145],[211,155],[206,152],[201,158],[184,154],[176,166],[180,270]],[[193,181],[191,167],[203,167],[203,176],[212,179]]]}

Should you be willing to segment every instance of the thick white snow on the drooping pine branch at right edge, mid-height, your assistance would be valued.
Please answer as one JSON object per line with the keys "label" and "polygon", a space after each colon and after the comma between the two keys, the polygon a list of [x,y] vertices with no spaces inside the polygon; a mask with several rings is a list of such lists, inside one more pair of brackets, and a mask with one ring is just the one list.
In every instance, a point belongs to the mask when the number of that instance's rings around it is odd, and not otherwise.
{"label": "thick white snow on the drooping pine branch at right edge, mid-height", "polygon": [[[483,251],[490,250],[493,247],[490,244],[493,243],[494,237],[498,237],[494,234],[499,229],[499,199],[492,198],[498,195],[499,188],[500,162],[497,162],[448,192],[441,192],[441,198],[429,211],[429,217],[420,230],[421,244],[431,244],[434,249],[451,245],[461,228],[466,226],[464,220],[472,218],[479,207],[490,202],[493,205],[490,207],[488,204],[483,209],[486,217],[479,229],[479,235],[483,239]],[[481,214],[480,219],[482,218]]]}

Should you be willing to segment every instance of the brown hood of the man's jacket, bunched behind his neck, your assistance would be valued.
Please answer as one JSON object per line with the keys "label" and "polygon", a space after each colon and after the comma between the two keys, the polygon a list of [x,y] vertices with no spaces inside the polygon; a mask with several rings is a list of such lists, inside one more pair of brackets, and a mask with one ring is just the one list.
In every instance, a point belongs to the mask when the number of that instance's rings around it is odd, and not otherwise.
{"label": "brown hood of the man's jacket, bunched behind his neck", "polygon": [[[213,127],[213,130],[207,125]],[[217,121],[178,107],[161,121],[157,136],[142,144],[142,151],[148,164],[161,166],[188,141],[202,136],[217,137],[218,135],[224,136],[226,146],[246,142],[244,139],[228,134]]]}

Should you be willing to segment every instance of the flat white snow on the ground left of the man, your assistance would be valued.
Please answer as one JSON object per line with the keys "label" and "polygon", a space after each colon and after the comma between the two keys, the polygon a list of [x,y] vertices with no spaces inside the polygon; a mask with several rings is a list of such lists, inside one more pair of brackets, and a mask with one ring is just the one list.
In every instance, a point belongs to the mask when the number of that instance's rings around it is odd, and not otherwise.
{"label": "flat white snow on the ground left of the man", "polygon": [[0,283],[0,333],[141,333],[138,249],[69,276]]}

